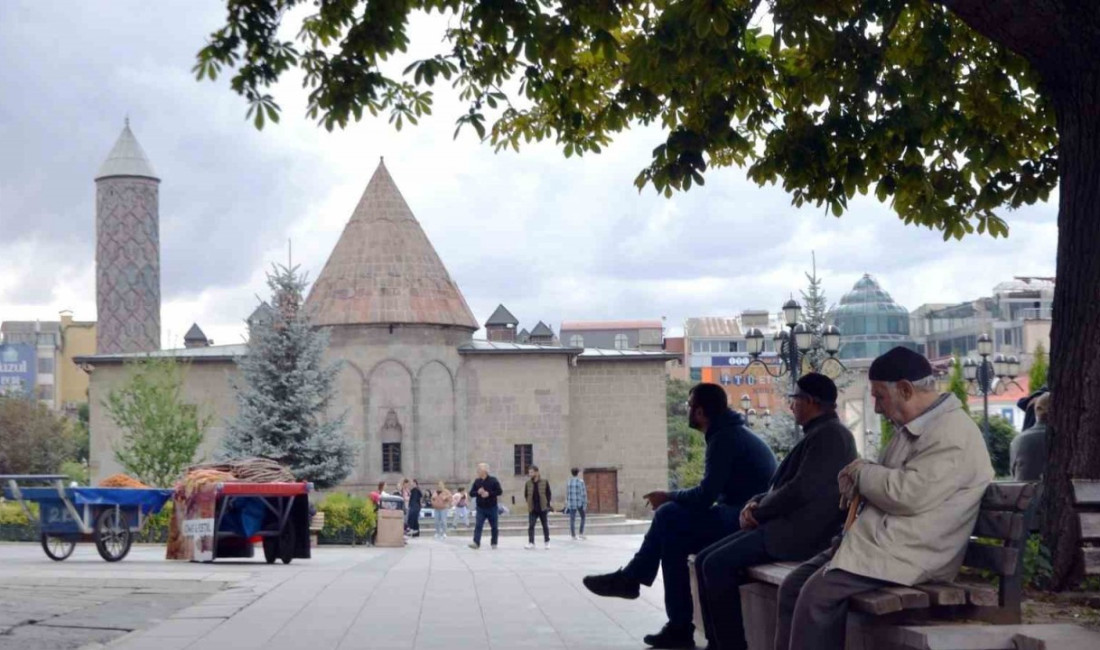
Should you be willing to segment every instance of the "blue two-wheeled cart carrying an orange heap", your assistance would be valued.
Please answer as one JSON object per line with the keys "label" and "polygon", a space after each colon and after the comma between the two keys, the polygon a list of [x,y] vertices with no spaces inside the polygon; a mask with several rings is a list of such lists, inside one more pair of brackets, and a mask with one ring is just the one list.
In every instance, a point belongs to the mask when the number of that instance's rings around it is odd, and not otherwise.
{"label": "blue two-wheeled cart carrying an orange heap", "polygon": [[118,562],[130,552],[133,536],[172,498],[170,489],[132,487],[66,487],[67,476],[0,475],[6,498],[18,500],[33,519],[26,502],[38,504],[42,550],[61,562],[78,541],[92,541],[99,555]]}

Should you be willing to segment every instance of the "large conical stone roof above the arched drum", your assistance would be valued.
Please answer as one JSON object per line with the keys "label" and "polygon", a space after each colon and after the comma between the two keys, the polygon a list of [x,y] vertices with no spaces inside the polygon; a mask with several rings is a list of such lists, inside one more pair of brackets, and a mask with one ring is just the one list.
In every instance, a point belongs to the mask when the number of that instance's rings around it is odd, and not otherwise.
{"label": "large conical stone roof above the arched drum", "polygon": [[479,329],[384,163],[378,164],[314,283],[306,308],[316,326]]}

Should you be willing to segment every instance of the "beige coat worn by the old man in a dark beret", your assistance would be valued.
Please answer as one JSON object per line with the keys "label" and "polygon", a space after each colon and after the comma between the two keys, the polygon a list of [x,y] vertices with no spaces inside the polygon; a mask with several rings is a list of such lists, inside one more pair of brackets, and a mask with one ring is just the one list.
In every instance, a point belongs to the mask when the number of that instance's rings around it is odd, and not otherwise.
{"label": "beige coat worn by the old man in a dark beret", "polygon": [[981,431],[948,395],[898,431],[858,474],[865,506],[829,569],[903,585],[954,580],[993,466]]}

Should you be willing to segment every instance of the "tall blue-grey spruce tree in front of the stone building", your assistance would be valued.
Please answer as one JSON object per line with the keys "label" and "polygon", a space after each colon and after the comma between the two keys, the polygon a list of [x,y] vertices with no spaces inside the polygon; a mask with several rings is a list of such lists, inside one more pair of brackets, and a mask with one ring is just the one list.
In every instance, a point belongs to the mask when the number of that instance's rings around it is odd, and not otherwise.
{"label": "tall blue-grey spruce tree in front of the stone building", "polygon": [[306,279],[297,267],[267,274],[268,317],[250,323],[249,353],[234,381],[239,414],[222,442],[228,459],[264,456],[287,465],[318,488],[351,472],[354,450],[344,437],[346,414],[326,417],[339,364],[323,365],[328,335],[302,309]]}

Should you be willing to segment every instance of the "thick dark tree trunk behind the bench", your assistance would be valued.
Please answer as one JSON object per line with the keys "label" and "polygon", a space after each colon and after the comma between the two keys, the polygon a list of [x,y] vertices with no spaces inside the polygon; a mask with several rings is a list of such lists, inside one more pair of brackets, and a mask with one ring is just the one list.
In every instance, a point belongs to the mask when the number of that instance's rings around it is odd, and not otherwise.
{"label": "thick dark tree trunk behind the bench", "polygon": [[1042,508],[1056,590],[1072,586],[1080,548],[1069,481],[1100,478],[1100,69],[1094,60],[1067,64],[1044,70],[1060,140],[1053,433]]}

